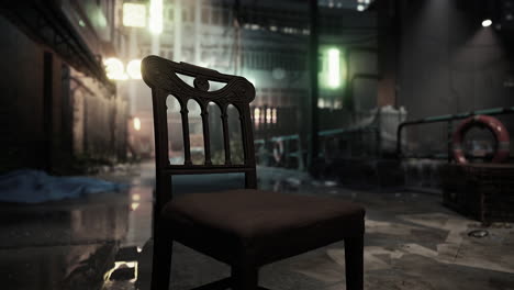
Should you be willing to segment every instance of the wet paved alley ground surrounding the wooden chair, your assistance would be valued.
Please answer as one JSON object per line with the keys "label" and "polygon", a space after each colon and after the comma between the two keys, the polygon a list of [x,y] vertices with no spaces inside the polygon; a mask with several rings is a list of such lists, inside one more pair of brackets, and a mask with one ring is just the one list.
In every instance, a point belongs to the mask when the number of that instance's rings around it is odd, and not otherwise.
{"label": "wet paved alley ground surrounding the wooden chair", "polygon": [[[153,164],[99,177],[131,187],[89,199],[0,204],[1,289],[148,289]],[[260,189],[332,196],[366,207],[366,289],[514,289],[511,224],[484,227],[444,208],[437,194],[350,190],[277,168],[259,168],[258,177]],[[174,188],[183,194],[242,185],[242,176],[224,175],[181,177]],[[473,230],[488,235],[468,235]],[[343,290],[344,267],[344,246],[336,243],[264,267],[260,283],[278,290]],[[174,290],[228,274],[226,265],[176,244]]]}

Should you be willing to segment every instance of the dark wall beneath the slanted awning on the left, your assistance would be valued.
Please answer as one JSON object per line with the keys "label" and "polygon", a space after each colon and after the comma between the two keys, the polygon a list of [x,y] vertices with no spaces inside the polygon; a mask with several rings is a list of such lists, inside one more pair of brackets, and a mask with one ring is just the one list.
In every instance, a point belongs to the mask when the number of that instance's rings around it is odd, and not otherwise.
{"label": "dark wall beneath the slanted awning on the left", "polygon": [[126,100],[13,23],[0,16],[0,172],[68,175],[123,160]]}

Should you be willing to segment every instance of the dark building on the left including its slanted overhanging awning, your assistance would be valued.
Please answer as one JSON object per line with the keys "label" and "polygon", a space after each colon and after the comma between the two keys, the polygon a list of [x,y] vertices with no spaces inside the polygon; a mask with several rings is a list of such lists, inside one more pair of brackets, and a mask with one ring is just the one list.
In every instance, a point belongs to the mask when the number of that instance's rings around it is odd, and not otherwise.
{"label": "dark building on the left including its slanted overhanging awning", "polygon": [[124,158],[127,104],[101,63],[120,44],[120,4],[1,4],[2,171]]}

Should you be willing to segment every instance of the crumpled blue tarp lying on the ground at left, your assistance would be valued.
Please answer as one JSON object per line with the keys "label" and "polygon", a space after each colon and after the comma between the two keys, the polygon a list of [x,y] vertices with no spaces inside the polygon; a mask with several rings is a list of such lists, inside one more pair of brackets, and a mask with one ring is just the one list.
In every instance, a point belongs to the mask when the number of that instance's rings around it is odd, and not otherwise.
{"label": "crumpled blue tarp lying on the ground at left", "polygon": [[55,177],[40,170],[15,170],[0,176],[0,202],[38,203],[92,193],[119,192],[126,185],[88,177]]}

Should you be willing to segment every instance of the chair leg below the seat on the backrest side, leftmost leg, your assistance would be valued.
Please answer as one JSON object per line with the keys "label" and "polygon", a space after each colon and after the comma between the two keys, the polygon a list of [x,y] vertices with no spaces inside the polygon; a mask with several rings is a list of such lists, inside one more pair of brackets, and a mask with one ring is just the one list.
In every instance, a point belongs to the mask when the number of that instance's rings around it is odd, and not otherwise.
{"label": "chair leg below the seat on the backrest side, leftmost leg", "polygon": [[152,290],[169,289],[172,245],[174,241],[169,233],[166,233],[166,231],[155,232],[154,257],[152,263]]}

